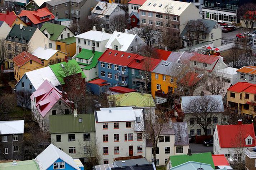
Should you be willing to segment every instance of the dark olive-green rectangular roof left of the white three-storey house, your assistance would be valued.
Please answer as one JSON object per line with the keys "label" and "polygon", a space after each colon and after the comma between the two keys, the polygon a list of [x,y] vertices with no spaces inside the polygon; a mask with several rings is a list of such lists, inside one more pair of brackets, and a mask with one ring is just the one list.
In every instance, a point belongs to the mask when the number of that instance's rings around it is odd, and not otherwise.
{"label": "dark olive-green rectangular roof left of the white three-storey house", "polygon": [[[82,118],[82,122],[79,122]],[[95,132],[94,114],[51,115],[50,133]]]}

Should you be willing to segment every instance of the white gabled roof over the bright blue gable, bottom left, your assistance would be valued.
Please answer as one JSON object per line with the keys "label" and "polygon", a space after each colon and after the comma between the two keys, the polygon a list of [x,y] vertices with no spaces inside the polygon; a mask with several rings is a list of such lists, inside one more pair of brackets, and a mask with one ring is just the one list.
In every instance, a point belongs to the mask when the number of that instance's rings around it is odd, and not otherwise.
{"label": "white gabled roof over the bright blue gable, bottom left", "polygon": [[66,164],[74,167],[74,169],[79,170],[79,167],[76,165],[73,158],[53,144],[50,144],[45,150],[43,150],[35,160],[38,161],[38,165],[39,167],[42,167],[42,170],[46,170],[58,159],[66,162]]}

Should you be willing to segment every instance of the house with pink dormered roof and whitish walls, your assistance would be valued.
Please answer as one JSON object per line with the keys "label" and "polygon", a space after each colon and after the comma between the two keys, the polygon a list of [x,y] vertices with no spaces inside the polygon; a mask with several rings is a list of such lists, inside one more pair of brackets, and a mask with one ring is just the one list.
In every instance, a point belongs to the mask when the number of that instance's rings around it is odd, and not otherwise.
{"label": "house with pink dormered roof and whitish walls", "polygon": [[47,79],[32,93],[32,116],[44,131],[49,131],[49,116],[70,114],[71,102]]}

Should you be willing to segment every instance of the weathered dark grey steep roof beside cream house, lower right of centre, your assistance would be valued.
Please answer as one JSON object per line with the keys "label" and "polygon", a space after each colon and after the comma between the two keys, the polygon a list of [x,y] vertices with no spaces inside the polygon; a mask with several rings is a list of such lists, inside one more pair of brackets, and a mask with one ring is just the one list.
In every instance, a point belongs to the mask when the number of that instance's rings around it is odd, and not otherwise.
{"label": "weathered dark grey steep roof beside cream house, lower right of centre", "polygon": [[188,134],[187,134],[187,123],[186,122],[176,122],[173,123],[173,129],[175,132],[175,143],[174,145],[188,145]]}

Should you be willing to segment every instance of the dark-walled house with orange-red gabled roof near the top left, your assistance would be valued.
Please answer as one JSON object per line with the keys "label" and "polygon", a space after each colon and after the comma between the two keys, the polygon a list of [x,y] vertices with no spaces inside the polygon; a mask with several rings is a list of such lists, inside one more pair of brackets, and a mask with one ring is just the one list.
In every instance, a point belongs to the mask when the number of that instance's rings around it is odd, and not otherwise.
{"label": "dark-walled house with orange-red gabled roof near the top left", "polygon": [[47,7],[35,11],[22,10],[19,17],[25,24],[38,29],[41,29],[43,23],[54,23],[55,18]]}

